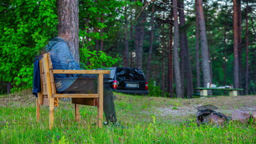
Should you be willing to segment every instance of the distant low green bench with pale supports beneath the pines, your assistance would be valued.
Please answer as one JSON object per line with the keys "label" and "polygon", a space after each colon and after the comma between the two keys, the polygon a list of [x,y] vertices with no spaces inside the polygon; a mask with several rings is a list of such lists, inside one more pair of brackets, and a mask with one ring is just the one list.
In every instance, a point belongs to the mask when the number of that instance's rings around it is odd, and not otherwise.
{"label": "distant low green bench with pale supports beneath the pines", "polygon": [[237,91],[243,91],[242,88],[206,88],[197,87],[200,90],[200,96],[207,96],[207,90],[219,90],[219,91],[229,91],[229,96],[237,96]]}

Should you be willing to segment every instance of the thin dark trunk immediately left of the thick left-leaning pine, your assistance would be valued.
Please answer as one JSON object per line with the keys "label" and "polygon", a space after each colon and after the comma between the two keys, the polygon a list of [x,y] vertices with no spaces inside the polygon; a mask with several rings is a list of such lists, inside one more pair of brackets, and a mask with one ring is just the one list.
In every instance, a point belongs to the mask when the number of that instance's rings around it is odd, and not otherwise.
{"label": "thin dark trunk immediately left of the thick left-leaning pine", "polygon": [[[196,0],[197,1],[197,0]],[[197,3],[197,2],[196,2]],[[197,7],[196,7],[197,9]],[[197,11],[197,10],[196,10]],[[199,41],[199,22],[198,22],[198,15],[196,15],[196,86],[201,87],[201,81],[200,81],[200,41]],[[200,90],[197,90],[197,93],[199,93]]]}

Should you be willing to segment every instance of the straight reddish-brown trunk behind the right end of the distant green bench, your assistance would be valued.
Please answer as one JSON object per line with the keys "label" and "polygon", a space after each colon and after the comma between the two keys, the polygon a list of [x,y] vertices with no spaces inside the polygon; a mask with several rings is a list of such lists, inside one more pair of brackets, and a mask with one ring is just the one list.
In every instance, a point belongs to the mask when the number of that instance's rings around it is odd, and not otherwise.
{"label": "straight reddish-brown trunk behind the right end of the distant green bench", "polygon": [[233,32],[234,32],[234,87],[239,88],[239,58],[238,58],[238,12],[237,1],[233,0]]}

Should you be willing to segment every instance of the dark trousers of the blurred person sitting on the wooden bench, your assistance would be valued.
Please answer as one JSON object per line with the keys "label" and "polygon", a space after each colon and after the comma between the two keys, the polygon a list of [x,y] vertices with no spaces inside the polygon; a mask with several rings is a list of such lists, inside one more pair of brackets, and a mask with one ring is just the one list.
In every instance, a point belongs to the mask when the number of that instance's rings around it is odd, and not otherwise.
{"label": "dark trousers of the blurred person sitting on the wooden bench", "polygon": [[[61,93],[91,93],[97,89],[94,82],[90,83],[86,78],[78,78],[69,86],[65,91]],[[94,86],[93,86],[94,85]],[[97,92],[96,92],[97,93]],[[106,117],[106,121],[109,123],[117,122],[117,116],[115,114],[114,95],[112,91],[104,88],[103,93],[103,111]]]}

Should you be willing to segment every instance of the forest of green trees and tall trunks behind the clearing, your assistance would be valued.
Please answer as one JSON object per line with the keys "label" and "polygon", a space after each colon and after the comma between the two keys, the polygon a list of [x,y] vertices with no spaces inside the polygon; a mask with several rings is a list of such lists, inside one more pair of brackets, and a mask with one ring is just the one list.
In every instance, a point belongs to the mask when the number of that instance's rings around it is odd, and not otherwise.
{"label": "forest of green trees and tall trunks behind the clearing", "polygon": [[[255,94],[255,6],[252,0],[80,0],[81,67],[139,68],[150,95],[190,98],[205,87],[208,63],[212,83]],[[31,88],[34,58],[57,36],[56,1],[1,0],[0,16],[0,93]]]}

